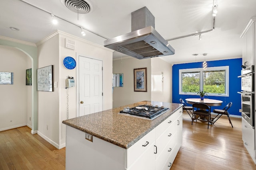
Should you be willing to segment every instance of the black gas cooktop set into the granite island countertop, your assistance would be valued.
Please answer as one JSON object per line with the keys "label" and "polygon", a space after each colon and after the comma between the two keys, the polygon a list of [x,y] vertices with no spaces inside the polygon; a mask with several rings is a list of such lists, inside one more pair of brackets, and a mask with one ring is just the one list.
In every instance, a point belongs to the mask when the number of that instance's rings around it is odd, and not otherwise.
{"label": "black gas cooktop set into the granite island countertop", "polygon": [[140,105],[136,107],[132,107],[130,109],[121,110],[120,113],[124,113],[126,115],[132,115],[137,117],[142,117],[146,119],[154,119],[157,116],[165,113],[168,108],[158,107],[152,105]]}

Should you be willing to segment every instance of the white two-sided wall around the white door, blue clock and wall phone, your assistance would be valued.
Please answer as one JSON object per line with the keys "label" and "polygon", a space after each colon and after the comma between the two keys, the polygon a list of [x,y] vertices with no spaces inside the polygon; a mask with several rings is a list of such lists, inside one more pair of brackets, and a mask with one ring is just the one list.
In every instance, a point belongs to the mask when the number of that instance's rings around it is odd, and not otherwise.
{"label": "white two-sided wall around the white door, blue clock and wall phone", "polygon": [[[75,41],[75,50],[64,47],[65,38]],[[62,62],[67,56],[76,59],[77,55],[101,60],[103,63],[103,109],[112,108],[112,51],[90,43],[73,35],[56,31],[49,37],[37,44],[38,46],[38,68],[54,65],[54,82],[58,87],[54,92],[38,92],[38,134],[57,148],[65,147],[66,125],[62,123],[67,119],[67,89],[65,80],[67,76],[73,76],[75,87],[68,89],[69,119],[76,117],[77,89],[78,83],[76,72],[66,69]],[[48,130],[47,130],[48,125]]]}

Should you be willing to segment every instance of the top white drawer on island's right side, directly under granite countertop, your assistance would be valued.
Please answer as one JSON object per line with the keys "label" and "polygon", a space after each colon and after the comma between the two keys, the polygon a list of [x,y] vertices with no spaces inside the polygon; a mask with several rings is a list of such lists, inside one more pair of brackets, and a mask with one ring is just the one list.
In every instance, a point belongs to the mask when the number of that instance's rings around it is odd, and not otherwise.
{"label": "top white drawer on island's right side, directly under granite countertop", "polygon": [[158,139],[158,137],[160,137],[160,135],[162,135],[162,133],[166,131],[170,125],[173,123],[176,124],[176,119],[180,114],[182,114],[182,107],[156,127],[156,139]]}

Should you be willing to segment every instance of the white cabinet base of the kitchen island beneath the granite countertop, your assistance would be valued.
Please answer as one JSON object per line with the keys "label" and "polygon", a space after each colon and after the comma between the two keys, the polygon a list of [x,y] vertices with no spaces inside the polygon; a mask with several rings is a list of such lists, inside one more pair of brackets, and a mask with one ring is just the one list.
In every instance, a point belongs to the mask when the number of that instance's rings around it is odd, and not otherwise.
{"label": "white cabinet base of the kitchen island beneath the granite countertop", "polygon": [[128,149],[66,126],[66,170],[169,170],[181,143],[182,107]]}

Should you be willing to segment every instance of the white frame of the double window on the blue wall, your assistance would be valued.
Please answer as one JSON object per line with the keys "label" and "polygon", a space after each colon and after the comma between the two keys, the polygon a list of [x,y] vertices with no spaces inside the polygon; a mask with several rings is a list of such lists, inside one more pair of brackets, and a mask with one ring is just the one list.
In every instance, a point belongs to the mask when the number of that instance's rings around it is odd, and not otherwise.
{"label": "white frame of the double window on the blue wall", "polygon": [[200,91],[203,90],[203,72],[204,71],[218,71],[225,70],[225,94],[208,94],[208,96],[225,96],[229,97],[229,66],[217,66],[217,67],[207,67],[206,70],[204,68],[187,68],[187,69],[179,69],[179,94],[180,95],[198,95],[197,93],[192,92],[182,92],[182,72],[200,72]]}

